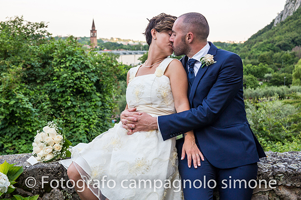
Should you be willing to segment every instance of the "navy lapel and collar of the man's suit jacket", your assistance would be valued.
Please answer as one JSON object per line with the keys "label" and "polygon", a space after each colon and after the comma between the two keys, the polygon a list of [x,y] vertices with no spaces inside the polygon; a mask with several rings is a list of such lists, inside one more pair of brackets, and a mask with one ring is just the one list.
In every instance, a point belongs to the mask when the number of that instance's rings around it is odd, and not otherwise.
{"label": "navy lapel and collar of the man's suit jacket", "polygon": [[[208,42],[208,43],[210,45],[210,49],[208,51],[208,54],[211,54],[211,55],[215,56],[217,48],[211,42]],[[193,99],[194,99],[195,93],[197,91],[197,87],[199,85],[199,82],[203,78],[203,76],[204,76],[205,72],[207,71],[207,69],[210,68],[210,67],[211,67],[211,65],[209,65],[209,66],[205,65],[203,68],[199,69],[199,72],[198,72],[198,74],[197,74],[197,76],[194,80],[194,83],[190,88],[189,102],[190,102],[191,105],[193,104]]]}

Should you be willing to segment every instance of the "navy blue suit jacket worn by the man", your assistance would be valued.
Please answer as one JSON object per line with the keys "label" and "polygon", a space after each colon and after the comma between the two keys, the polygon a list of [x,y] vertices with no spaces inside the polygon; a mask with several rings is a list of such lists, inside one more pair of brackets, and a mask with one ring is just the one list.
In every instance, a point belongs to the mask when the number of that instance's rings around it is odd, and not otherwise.
{"label": "navy blue suit jacket worn by the man", "polygon": [[[190,110],[158,117],[163,140],[194,130],[208,161],[227,169],[259,161],[265,153],[248,123],[243,102],[241,58],[209,42],[216,63],[200,68],[188,89]],[[188,57],[182,62],[187,72]]]}

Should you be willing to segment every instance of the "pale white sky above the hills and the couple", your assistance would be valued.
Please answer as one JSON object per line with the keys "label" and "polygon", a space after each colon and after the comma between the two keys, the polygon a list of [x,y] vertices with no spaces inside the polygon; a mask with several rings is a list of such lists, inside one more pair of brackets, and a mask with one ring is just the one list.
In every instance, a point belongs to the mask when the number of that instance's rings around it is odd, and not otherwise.
{"label": "pale white sky above the hills and the couple", "polygon": [[203,14],[210,27],[208,41],[246,41],[276,18],[286,0],[0,0],[0,21],[23,16],[47,22],[52,36],[90,37],[92,20],[97,38],[145,41],[148,19],[160,13]]}

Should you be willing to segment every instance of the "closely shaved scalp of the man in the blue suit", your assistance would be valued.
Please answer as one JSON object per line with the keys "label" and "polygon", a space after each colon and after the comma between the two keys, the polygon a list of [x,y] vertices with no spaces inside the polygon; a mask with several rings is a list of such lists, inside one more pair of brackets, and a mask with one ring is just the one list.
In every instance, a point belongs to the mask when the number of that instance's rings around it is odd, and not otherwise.
{"label": "closely shaved scalp of the man in the blue suit", "polygon": [[192,32],[201,42],[207,41],[209,35],[209,25],[206,18],[200,13],[186,13],[178,17],[181,19],[184,34]]}

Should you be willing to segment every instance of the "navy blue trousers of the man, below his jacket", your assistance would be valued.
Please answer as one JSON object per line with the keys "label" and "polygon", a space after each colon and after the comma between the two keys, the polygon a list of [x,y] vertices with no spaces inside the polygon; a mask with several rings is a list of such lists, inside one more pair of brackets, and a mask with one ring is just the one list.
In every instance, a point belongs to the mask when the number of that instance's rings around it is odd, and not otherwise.
{"label": "navy blue trousers of the man, below his jacket", "polygon": [[188,168],[187,155],[181,160],[183,139],[177,141],[179,172],[185,200],[211,200],[218,188],[220,200],[250,200],[257,178],[257,163],[230,169],[215,168],[204,155],[201,166]]}

